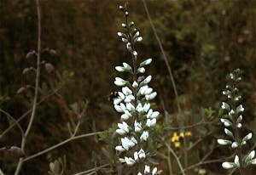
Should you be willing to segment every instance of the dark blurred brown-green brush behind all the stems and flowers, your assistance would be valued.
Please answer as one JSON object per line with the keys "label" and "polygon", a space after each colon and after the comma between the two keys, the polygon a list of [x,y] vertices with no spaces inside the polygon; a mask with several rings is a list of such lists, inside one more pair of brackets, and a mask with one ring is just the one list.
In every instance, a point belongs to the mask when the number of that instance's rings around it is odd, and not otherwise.
{"label": "dark blurred brown-green brush behind all the stems and flowers", "polygon": [[[69,104],[87,99],[90,101],[86,113],[87,121],[79,133],[92,132],[93,122],[97,131],[107,130],[119,121],[118,114],[106,99],[114,89],[113,79],[117,76],[115,65],[126,57],[125,45],[119,41],[122,16],[119,1],[41,1],[43,15],[42,48],[52,48],[56,56],[43,54],[58,71],[73,71],[73,82],[61,89],[61,96],[47,99],[38,108],[37,118],[27,144],[27,155],[48,148],[69,137],[67,122],[73,123]],[[122,2],[123,3],[123,2]],[[154,33],[148,23],[143,3],[130,0],[131,20],[143,36],[138,44],[139,59],[151,57],[148,74],[154,76],[152,86],[158,92],[156,99],[159,110],[164,113],[161,101],[168,113],[177,113],[177,101],[182,103],[183,112],[191,117],[201,107],[212,107],[218,116],[222,91],[230,71],[240,68],[244,82],[241,84],[243,104],[246,108],[245,128],[256,133],[256,1],[222,0],[178,0],[147,1],[154,25],[166,54],[175,81],[179,99],[175,99],[166,65]],[[37,14],[32,0],[2,0],[0,2],[0,107],[18,118],[29,106],[26,99],[15,94],[16,90],[32,79],[21,72],[30,66],[26,53],[37,48]],[[3,100],[8,96],[9,99]],[[5,98],[6,99],[6,98]],[[218,119],[216,119],[218,122]],[[186,120],[186,124],[191,121]],[[0,116],[0,131],[8,121]],[[21,122],[26,125],[26,120]],[[174,122],[175,125],[175,122]],[[0,140],[1,146],[20,145],[19,130],[15,127],[8,136]],[[193,133],[200,137],[200,133]],[[223,127],[215,134],[223,134]],[[205,142],[212,142],[212,137]],[[255,142],[255,138],[253,139]],[[24,164],[23,173],[42,174],[49,169],[49,161],[67,155],[69,169],[86,170],[93,167],[91,152],[99,154],[104,143],[95,138],[84,138],[65,144],[57,150],[38,156]],[[203,153],[207,148],[201,147]],[[218,150],[215,150],[217,155]],[[221,150],[226,153],[230,151]],[[222,154],[223,155],[223,154]],[[228,155],[228,154],[227,154]],[[219,157],[220,158],[220,157]],[[18,160],[8,155],[1,156],[3,172],[12,174]],[[36,166],[35,166],[36,165]],[[165,165],[161,165],[165,169]],[[207,166],[206,166],[207,167]],[[214,172],[220,163],[207,168]]]}

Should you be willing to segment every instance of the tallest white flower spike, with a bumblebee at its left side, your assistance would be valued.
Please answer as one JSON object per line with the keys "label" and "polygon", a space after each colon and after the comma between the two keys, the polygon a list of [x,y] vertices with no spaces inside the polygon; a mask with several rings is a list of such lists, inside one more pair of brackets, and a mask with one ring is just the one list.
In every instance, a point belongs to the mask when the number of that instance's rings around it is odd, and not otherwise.
{"label": "tallest white flower spike, with a bumblebee at its left side", "polygon": [[[129,72],[132,81],[116,77],[114,84],[120,87],[120,91],[113,98],[114,109],[119,112],[120,122],[116,133],[119,134],[120,144],[115,147],[119,152],[119,161],[125,163],[128,167],[138,167],[138,174],[156,174],[157,168],[150,172],[148,158],[154,155],[148,149],[148,139],[157,118],[160,115],[158,111],[151,108],[150,101],[157,93],[150,88],[152,76],[143,76],[146,72],[145,67],[152,62],[152,59],[138,61],[138,53],[135,50],[137,42],[142,42],[140,32],[134,27],[134,22],[128,21],[128,3],[125,6],[119,6],[124,14],[125,23],[122,24],[124,31],[118,32],[122,42],[125,42],[128,52],[131,54],[130,61],[116,66],[115,70],[119,72]],[[121,75],[120,75],[121,76]],[[152,158],[150,157],[152,160]],[[135,166],[136,165],[136,166]]]}

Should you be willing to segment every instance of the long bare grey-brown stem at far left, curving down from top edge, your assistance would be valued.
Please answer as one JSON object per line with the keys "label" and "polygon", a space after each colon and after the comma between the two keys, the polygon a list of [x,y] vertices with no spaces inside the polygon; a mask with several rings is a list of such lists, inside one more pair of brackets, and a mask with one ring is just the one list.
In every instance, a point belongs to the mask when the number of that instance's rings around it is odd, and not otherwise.
{"label": "long bare grey-brown stem at far left, curving down from top edge", "polygon": [[[25,152],[25,146],[26,146],[26,139],[28,134],[31,131],[32,123],[36,116],[37,102],[38,102],[38,87],[39,87],[40,59],[41,59],[40,58],[41,57],[41,11],[40,11],[39,0],[36,0],[36,3],[37,3],[37,12],[38,12],[38,54],[37,54],[37,67],[36,67],[36,82],[35,82],[35,94],[34,94],[34,99],[32,104],[31,118],[26,128],[26,133],[23,135],[22,141],[21,141],[21,150],[23,150],[24,152]],[[24,162],[23,158],[20,158],[20,161],[15,171],[15,175],[19,174],[23,162]]]}

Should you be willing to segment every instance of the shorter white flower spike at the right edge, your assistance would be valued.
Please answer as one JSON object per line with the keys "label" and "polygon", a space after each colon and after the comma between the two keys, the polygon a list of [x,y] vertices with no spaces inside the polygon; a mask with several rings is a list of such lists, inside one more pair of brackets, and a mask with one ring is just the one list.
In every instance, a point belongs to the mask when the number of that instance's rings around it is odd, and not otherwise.
{"label": "shorter white flower spike at the right edge", "polygon": [[[244,111],[242,104],[238,104],[241,99],[241,95],[238,94],[239,90],[236,88],[236,84],[241,81],[239,77],[240,70],[237,69],[233,73],[230,73],[230,79],[232,84],[226,86],[226,90],[223,92],[224,95],[229,99],[229,103],[222,102],[221,108],[227,110],[228,117],[221,118],[220,121],[224,124],[224,133],[226,133],[230,139],[218,139],[218,144],[226,145],[230,144],[231,148],[236,149],[237,155],[235,156],[234,162],[224,162],[222,167],[224,169],[230,169],[237,167],[239,169],[244,169],[248,165],[256,165],[256,159],[254,158],[255,151],[251,151],[242,157],[241,147],[247,144],[247,141],[253,137],[253,133],[248,133],[243,138],[240,138],[238,130],[242,127],[241,121],[242,116],[241,112]],[[233,129],[233,131],[231,131]]]}

